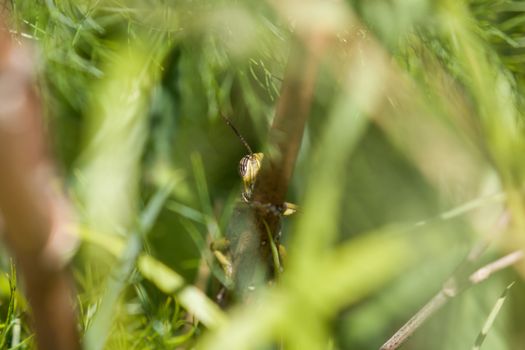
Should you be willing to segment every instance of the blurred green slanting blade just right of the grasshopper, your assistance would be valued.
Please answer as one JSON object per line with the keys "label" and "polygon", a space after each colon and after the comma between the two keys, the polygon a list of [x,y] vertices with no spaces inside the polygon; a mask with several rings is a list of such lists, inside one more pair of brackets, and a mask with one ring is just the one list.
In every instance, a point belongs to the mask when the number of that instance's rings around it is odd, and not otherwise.
{"label": "blurred green slanting blade just right of the grasshopper", "polygon": [[[290,255],[290,268],[295,264],[309,265],[315,256],[331,246],[337,236],[339,206],[343,196],[334,179],[345,173],[345,160],[364,134],[368,120],[357,110],[353,101],[342,95],[330,116],[322,146],[311,170],[309,186],[297,223],[292,244],[301,254]],[[302,268],[308,270],[307,266]]]}

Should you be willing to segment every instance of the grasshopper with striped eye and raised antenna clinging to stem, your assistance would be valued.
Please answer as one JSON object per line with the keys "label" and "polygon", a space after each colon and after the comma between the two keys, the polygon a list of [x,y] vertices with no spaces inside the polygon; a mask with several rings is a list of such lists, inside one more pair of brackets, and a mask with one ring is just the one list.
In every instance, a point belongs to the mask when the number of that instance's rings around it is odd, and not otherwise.
{"label": "grasshopper with striped eye and raised antenna clinging to stem", "polygon": [[[282,270],[282,259],[285,255],[284,247],[278,242],[276,243],[270,233],[268,233],[268,239],[254,237],[257,235],[256,232],[261,232],[260,227],[257,227],[261,223],[256,222],[256,212],[263,212],[275,217],[288,216],[297,211],[297,206],[287,202],[278,205],[260,203],[253,199],[253,191],[264,155],[263,153],[254,153],[231,120],[222,113],[221,117],[237,135],[249,153],[239,162],[238,171],[243,182],[241,201],[234,210],[225,238],[212,242],[210,248],[224,270],[227,280],[231,281],[238,290],[249,290],[253,289],[253,286],[249,285],[249,282],[242,281],[239,275],[243,274],[243,270],[253,269],[253,265],[256,265],[254,260],[257,260],[256,256],[261,255],[257,251],[259,244],[264,246],[269,242],[273,265],[277,274]],[[266,226],[266,223],[263,222],[262,225]],[[266,229],[262,231],[268,232]],[[251,275],[251,272],[244,274]],[[238,284],[244,284],[245,288],[238,286]]]}

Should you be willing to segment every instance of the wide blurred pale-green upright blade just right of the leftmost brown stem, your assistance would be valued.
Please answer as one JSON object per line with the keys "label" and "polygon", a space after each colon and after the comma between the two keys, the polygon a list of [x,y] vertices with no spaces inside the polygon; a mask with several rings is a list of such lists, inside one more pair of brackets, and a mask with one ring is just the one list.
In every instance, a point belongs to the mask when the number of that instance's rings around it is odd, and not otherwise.
{"label": "wide blurred pale-green upright blade just right of the leftmost brown stem", "polygon": [[[149,48],[156,52],[155,48]],[[147,92],[156,70],[139,47],[122,48],[105,68],[88,112],[76,191],[83,219],[101,230],[127,229],[136,216]],[[145,74],[145,73],[151,73]]]}

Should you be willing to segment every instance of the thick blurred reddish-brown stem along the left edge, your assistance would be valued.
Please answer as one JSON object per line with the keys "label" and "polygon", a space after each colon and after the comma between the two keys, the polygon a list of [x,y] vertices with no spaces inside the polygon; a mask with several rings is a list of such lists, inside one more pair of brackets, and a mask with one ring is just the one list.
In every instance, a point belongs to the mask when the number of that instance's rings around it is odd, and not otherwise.
{"label": "thick blurred reddish-brown stem along the left edge", "polygon": [[0,29],[0,211],[39,349],[74,350],[80,345],[64,254],[76,241],[65,233],[70,215],[55,188],[33,67],[31,55]]}

